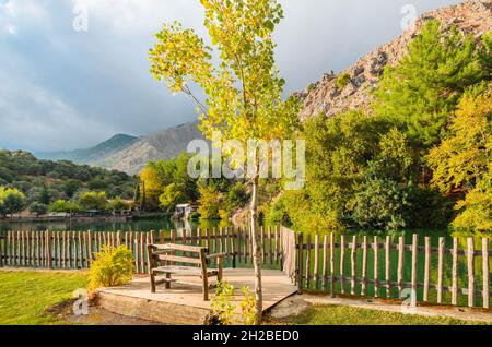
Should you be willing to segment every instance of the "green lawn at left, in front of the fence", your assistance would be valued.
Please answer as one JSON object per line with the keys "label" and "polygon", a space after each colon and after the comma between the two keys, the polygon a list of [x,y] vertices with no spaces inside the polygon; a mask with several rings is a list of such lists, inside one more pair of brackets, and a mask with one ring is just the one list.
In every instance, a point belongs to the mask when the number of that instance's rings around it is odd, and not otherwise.
{"label": "green lawn at left, in front of the fence", "polygon": [[0,272],[0,325],[60,324],[45,310],[85,286],[84,274]]}

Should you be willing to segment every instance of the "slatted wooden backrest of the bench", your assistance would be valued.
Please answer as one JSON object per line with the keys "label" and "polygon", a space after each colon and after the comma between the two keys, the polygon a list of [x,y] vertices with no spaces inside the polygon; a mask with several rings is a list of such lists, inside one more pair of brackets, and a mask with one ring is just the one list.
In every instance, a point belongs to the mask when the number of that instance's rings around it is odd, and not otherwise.
{"label": "slatted wooden backrest of the bench", "polygon": [[[176,255],[179,252],[180,255]],[[167,263],[181,263],[195,266],[207,266],[206,247],[186,246],[186,244],[149,244],[149,254],[153,261]],[[186,254],[186,256],[185,256]]]}

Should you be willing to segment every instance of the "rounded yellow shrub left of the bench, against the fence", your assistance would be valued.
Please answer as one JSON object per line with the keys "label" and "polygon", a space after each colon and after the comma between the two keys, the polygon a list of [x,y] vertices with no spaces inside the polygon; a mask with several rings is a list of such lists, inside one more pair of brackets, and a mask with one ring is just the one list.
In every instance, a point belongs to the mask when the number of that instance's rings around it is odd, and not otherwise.
{"label": "rounded yellow shrub left of the bench, against the fence", "polygon": [[89,289],[115,287],[133,278],[133,253],[126,247],[104,246],[89,271]]}

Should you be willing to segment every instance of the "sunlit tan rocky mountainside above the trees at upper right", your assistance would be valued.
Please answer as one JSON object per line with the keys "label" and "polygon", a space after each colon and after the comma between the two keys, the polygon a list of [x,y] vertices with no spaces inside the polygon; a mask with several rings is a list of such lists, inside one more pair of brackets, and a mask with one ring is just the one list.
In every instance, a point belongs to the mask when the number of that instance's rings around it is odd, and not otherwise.
{"label": "sunlit tan rocky mountainside above the trees at upper right", "polygon": [[[462,3],[425,13],[400,37],[361,58],[350,69],[339,74],[327,73],[305,91],[296,93],[304,105],[300,118],[305,120],[320,113],[332,117],[356,108],[368,110],[371,92],[379,82],[385,67],[394,65],[401,59],[409,41],[432,19],[438,20],[443,29],[457,25],[462,32],[480,37],[492,28],[492,1],[465,0]],[[343,88],[337,87],[340,76],[348,80]]]}

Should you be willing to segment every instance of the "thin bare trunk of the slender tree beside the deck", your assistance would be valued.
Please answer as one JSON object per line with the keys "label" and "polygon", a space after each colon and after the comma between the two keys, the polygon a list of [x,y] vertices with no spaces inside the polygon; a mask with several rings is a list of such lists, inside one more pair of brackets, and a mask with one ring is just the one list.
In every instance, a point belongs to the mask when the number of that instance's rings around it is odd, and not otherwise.
{"label": "thin bare trunk of the slender tree beside the deck", "polygon": [[250,240],[253,244],[253,266],[255,270],[256,324],[261,324],[263,312],[263,292],[261,287],[260,248],[258,243],[258,179],[253,179],[251,192],[251,227]]}

